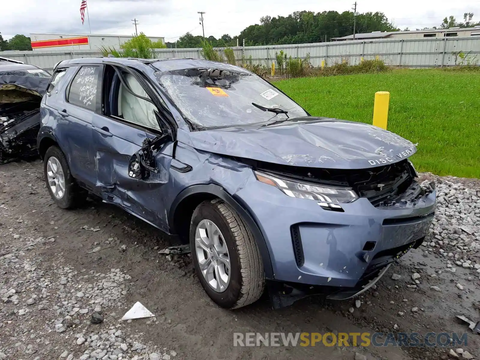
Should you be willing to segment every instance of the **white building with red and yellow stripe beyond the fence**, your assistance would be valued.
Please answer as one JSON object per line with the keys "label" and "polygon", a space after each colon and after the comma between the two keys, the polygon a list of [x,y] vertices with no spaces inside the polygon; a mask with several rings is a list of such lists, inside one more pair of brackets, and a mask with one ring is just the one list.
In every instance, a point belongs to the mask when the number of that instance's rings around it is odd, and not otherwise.
{"label": "white building with red and yellow stripe beyond the fence", "polygon": [[[160,36],[148,36],[152,41],[162,40]],[[30,34],[32,50],[98,50],[112,47],[120,49],[120,44],[130,40],[132,35],[101,35],[101,34]]]}

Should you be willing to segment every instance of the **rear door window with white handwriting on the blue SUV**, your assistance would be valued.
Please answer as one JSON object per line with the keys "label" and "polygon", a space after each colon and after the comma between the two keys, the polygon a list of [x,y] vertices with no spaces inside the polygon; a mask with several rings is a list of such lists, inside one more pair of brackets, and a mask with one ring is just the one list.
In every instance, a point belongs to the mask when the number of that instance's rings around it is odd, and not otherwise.
{"label": "rear door window with white handwriting on the blue SUV", "polygon": [[95,111],[99,73],[99,66],[82,66],[73,78],[67,101],[73,105]]}

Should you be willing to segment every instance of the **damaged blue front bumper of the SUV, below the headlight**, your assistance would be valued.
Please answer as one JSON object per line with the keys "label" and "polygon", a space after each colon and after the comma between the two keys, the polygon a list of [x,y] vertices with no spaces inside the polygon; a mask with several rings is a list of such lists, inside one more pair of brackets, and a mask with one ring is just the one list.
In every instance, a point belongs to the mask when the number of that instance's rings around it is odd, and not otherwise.
{"label": "damaged blue front bumper of the SUV, below the headlight", "polygon": [[237,195],[264,233],[274,307],[313,294],[340,300],[365,291],[391,263],[420,246],[435,210],[435,185],[416,181],[384,201],[370,196],[341,204],[341,212],[260,181],[249,181]]}

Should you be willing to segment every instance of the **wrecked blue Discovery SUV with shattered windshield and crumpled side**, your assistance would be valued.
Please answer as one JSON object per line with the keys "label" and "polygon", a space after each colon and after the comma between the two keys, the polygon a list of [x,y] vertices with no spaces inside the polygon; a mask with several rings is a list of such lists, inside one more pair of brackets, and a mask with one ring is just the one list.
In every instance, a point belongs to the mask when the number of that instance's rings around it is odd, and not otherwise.
{"label": "wrecked blue Discovery SUV with shattered windshield and crumpled side", "polygon": [[198,59],[60,62],[37,146],[61,208],[89,192],[190,244],[208,296],[239,308],[346,299],[423,241],[434,184],[409,141],[313,117],[237,66]]}

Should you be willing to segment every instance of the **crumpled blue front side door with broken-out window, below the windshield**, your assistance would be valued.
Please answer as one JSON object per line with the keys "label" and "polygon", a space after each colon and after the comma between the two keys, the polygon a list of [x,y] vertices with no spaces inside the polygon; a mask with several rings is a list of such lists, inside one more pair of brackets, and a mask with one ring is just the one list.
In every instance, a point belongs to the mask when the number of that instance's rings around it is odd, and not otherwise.
{"label": "crumpled blue front side door with broken-out window, below the windshield", "polygon": [[148,179],[129,176],[132,156],[142,150],[146,139],[164,135],[157,120],[159,110],[146,100],[150,96],[141,84],[146,79],[140,72],[131,71],[117,68],[116,72],[113,66],[105,67],[102,112],[92,121],[96,183],[105,201],[119,204],[156,227],[166,228],[163,194],[173,143],[167,137],[157,142],[160,146],[153,165],[156,173],[151,173]]}

